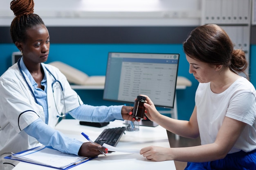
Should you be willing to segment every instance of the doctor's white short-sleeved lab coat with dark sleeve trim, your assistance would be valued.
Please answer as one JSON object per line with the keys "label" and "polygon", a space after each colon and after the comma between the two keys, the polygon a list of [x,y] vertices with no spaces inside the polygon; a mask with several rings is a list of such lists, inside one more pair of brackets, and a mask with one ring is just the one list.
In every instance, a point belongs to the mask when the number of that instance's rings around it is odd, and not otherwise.
{"label": "doctor's white short-sleeved lab coat with dark sleeve trim", "polygon": [[[83,104],[80,97],[71,89],[65,76],[57,68],[43,63],[42,65],[52,72],[65,89],[63,92],[66,112]],[[58,112],[56,111],[54,97],[59,113],[61,113],[61,111],[64,112],[64,102],[61,97],[62,91],[55,89],[53,95],[52,82],[54,81],[54,77],[46,70],[45,74],[47,77],[48,125],[55,127],[58,122]],[[29,86],[33,89],[26,75],[25,77]],[[35,102],[27,83],[20,73],[17,63],[11,66],[0,77],[0,170],[4,169],[4,167],[1,167],[3,162],[12,163],[14,165],[18,163],[17,161],[4,159],[4,157],[10,155],[11,152],[18,153],[22,150],[40,145],[34,137],[27,135],[27,133],[23,131],[25,127],[38,118],[45,122],[43,107]],[[54,85],[58,85],[58,83],[54,83]],[[4,166],[7,167],[10,165],[4,164]]]}

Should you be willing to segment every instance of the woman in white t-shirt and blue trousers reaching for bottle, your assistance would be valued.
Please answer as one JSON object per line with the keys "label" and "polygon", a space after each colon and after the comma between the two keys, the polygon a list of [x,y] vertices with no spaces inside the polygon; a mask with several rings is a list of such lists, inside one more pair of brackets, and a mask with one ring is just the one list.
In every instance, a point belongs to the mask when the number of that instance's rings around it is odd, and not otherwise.
{"label": "woman in white t-shirt and blue trousers reaching for bottle", "polygon": [[247,68],[245,53],[234,50],[215,24],[195,28],[183,44],[189,73],[199,85],[189,121],[161,115],[146,96],[146,116],[168,131],[201,145],[184,148],[148,146],[140,154],[153,161],[188,162],[186,170],[256,169],[256,91],[238,75]]}

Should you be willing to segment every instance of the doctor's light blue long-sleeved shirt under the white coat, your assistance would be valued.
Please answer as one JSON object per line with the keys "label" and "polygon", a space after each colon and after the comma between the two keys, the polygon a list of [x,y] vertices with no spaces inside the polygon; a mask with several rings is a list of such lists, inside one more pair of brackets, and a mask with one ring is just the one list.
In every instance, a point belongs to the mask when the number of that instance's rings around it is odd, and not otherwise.
{"label": "doctor's light blue long-sleeved shirt under the white coat", "polygon": [[[33,85],[34,94],[36,96],[37,102],[39,105],[43,106],[45,112],[45,122],[43,122],[40,118],[27,126],[24,131],[35,137],[38,142],[45,146],[52,146],[53,148],[60,150],[63,153],[70,153],[74,155],[78,155],[79,149],[83,142],[77,139],[71,139],[66,137],[63,133],[52,129],[47,125],[48,123],[48,106],[47,106],[47,86],[46,86],[46,76],[44,76],[41,85],[45,86],[45,90],[38,88],[37,83],[34,81],[34,78],[31,76],[29,71],[27,70],[22,59],[20,60],[20,67],[22,71],[28,76],[29,81]],[[44,70],[46,72],[46,70]],[[100,106],[94,107],[90,105],[80,105],[76,109],[73,109],[69,112],[69,114],[78,120],[88,121],[88,122],[109,122],[115,119],[123,120],[121,116],[121,108],[120,106]],[[85,141],[87,142],[87,141]]]}

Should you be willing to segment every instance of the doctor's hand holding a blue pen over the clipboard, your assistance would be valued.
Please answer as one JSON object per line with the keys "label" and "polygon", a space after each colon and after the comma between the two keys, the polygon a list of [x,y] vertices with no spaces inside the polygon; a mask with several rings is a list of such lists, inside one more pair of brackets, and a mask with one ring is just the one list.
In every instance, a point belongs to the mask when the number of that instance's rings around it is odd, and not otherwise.
{"label": "doctor's hand holding a blue pen over the clipboard", "polygon": [[100,144],[85,142],[80,147],[78,155],[83,157],[97,157],[98,155],[102,154],[99,150],[102,150],[104,153],[108,153],[108,149]]}

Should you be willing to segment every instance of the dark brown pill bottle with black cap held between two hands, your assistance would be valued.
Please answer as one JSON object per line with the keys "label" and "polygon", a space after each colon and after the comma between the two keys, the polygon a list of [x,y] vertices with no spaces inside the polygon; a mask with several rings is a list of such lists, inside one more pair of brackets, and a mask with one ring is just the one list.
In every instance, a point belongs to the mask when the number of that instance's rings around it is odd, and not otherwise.
{"label": "dark brown pill bottle with black cap held between two hands", "polygon": [[133,111],[132,111],[132,118],[137,119],[144,119],[145,114],[145,107],[144,103],[146,102],[146,97],[144,96],[137,96],[137,100],[134,102]]}

